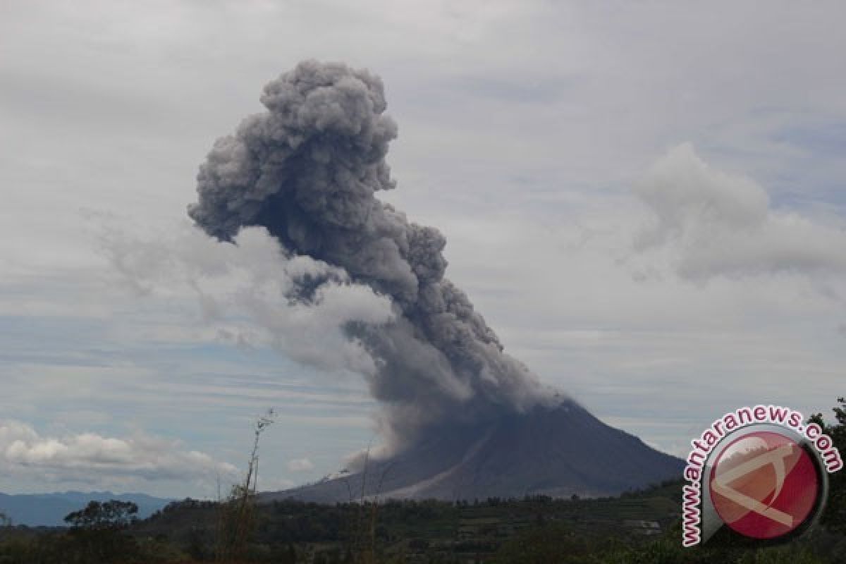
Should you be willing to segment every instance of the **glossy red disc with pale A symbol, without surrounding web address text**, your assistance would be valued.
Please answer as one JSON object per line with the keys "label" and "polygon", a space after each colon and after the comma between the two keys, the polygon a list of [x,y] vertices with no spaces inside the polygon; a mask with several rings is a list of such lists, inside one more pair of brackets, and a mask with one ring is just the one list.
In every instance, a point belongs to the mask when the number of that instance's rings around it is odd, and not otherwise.
{"label": "glossy red disc with pale A symbol, without surrounding web address text", "polygon": [[728,527],[754,539],[775,539],[813,517],[821,485],[816,464],[798,442],[754,431],[720,453],[709,488]]}

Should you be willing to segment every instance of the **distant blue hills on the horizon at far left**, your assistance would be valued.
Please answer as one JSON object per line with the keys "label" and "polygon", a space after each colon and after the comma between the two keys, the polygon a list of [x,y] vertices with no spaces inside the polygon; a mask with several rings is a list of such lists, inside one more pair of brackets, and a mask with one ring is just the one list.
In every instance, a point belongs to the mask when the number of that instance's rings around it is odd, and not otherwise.
{"label": "distant blue hills on the horizon at far left", "polygon": [[16,525],[32,527],[63,526],[64,516],[77,511],[89,501],[134,501],[138,505],[138,517],[149,517],[168,505],[168,499],[147,496],[146,494],[113,494],[110,491],[64,491],[52,494],[8,495],[0,493],[0,512],[6,514]]}

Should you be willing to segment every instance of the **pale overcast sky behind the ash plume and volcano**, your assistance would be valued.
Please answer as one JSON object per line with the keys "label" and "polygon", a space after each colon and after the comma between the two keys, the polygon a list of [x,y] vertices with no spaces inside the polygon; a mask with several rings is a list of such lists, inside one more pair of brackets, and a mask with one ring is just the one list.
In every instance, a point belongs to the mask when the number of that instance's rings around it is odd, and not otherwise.
{"label": "pale overcast sky behind the ash plume and volcano", "polygon": [[447,277],[542,382],[679,456],[743,405],[828,413],[846,392],[844,17],[3,0],[0,490],[215,496],[267,408],[260,489],[379,443],[354,362],[210,315],[238,268],[202,291],[159,271],[208,244],[186,206],[214,140],[308,58],[382,77],[398,186],[380,197],[441,230]]}

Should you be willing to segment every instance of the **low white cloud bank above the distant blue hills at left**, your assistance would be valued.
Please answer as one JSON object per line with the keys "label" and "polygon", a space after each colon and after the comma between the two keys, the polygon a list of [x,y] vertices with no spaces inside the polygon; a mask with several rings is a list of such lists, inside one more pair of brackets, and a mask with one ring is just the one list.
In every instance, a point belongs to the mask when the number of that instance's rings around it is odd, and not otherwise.
{"label": "low white cloud bank above the distant blue hills at left", "polygon": [[95,433],[42,436],[16,420],[0,422],[0,468],[10,474],[61,474],[81,481],[109,479],[231,478],[232,464],[205,452],[186,450],[180,441],[150,435],[115,438]]}

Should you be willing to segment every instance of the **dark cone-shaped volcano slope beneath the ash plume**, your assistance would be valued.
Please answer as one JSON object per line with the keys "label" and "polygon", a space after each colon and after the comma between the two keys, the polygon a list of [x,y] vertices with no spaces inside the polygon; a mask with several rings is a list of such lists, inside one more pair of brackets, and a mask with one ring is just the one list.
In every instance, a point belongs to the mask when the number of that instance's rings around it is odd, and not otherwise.
{"label": "dark cone-shaped volcano slope beneath the ash plume", "polygon": [[366,473],[266,492],[261,501],[332,503],[358,500],[362,493],[370,499],[441,500],[611,496],[676,478],[683,468],[680,459],[569,401],[427,436],[394,457],[371,460]]}

